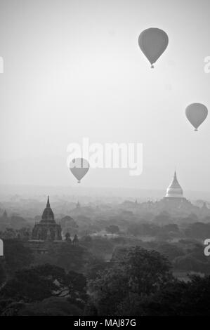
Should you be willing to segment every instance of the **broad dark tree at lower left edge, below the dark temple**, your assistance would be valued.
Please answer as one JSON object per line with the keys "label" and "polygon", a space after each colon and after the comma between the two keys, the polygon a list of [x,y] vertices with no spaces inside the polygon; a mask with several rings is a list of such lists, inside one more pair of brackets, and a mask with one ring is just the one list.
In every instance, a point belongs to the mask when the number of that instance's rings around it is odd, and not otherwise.
{"label": "broad dark tree at lower left edge, below the dark temple", "polygon": [[77,272],[66,273],[55,265],[39,265],[15,272],[1,288],[0,295],[3,299],[25,303],[61,296],[82,308],[87,298],[86,277]]}

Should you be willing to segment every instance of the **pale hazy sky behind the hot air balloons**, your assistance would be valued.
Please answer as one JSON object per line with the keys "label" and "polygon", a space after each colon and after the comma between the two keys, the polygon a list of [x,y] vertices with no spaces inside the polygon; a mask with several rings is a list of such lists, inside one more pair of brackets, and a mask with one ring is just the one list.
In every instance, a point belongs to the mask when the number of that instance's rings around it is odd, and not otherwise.
{"label": "pale hazy sky behind the hot air balloons", "polygon": [[[143,143],[143,173],[90,170],[81,185],[210,190],[210,114],[195,133],[185,107],[210,110],[209,0],[0,0],[1,184],[77,185],[67,145]],[[138,47],[159,27],[155,70]]]}

